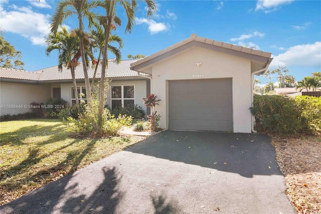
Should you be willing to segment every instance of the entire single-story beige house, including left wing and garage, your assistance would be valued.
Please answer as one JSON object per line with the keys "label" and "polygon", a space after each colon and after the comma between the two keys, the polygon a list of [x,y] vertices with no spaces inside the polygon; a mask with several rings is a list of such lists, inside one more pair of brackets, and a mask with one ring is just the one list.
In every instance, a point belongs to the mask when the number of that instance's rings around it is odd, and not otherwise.
{"label": "entire single-story beige house, including left wing and garage", "polygon": [[[271,53],[192,34],[143,59],[119,65],[109,62],[107,74],[112,81],[107,104],[112,108],[125,103],[142,106],[141,98],[154,93],[162,99],[156,106],[161,128],[251,133],[253,76],[264,73],[271,61]],[[2,105],[45,102],[59,94],[73,102],[71,74],[66,68],[11,73],[15,72],[1,70]],[[88,73],[92,78],[93,69]],[[76,67],[76,78],[84,91],[81,66]],[[1,114],[17,111],[24,110],[2,109]]]}

